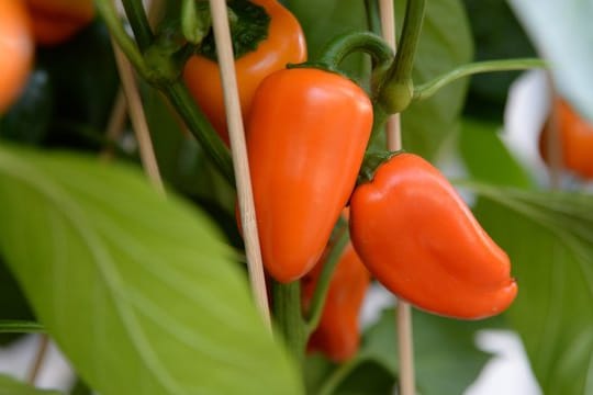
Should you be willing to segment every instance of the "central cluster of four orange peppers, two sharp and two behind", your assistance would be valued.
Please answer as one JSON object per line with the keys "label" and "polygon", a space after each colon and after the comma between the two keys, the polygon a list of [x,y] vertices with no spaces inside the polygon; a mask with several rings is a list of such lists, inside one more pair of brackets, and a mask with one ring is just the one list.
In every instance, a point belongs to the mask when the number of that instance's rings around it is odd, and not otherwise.
{"label": "central cluster of four orange peppers, two sharp and two behind", "polygon": [[[367,149],[390,111],[337,64],[366,50],[384,71],[391,50],[360,34],[306,64],[294,16],[276,0],[251,2],[270,16],[268,35],[236,60],[261,255],[273,280],[301,281],[305,315],[334,226],[345,207],[350,212],[351,244],[335,268],[309,349],[335,361],[356,352],[371,275],[398,297],[443,316],[479,319],[508,307],[517,293],[508,257],[446,178],[416,155],[387,153],[378,160]],[[370,38],[370,49],[360,45]],[[208,79],[216,68],[195,55],[183,77],[228,142],[222,87]]]}

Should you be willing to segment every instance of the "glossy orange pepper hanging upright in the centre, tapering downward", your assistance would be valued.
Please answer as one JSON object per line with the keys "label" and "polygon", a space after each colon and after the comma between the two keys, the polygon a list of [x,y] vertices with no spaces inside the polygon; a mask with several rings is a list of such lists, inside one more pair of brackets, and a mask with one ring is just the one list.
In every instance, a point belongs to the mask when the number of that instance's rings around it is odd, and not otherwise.
{"label": "glossy orange pepper hanging upright in the centre, tapering downward", "polygon": [[369,98],[337,74],[284,69],[259,86],[247,153],[264,266],[277,281],[299,280],[320,259],[371,127]]}

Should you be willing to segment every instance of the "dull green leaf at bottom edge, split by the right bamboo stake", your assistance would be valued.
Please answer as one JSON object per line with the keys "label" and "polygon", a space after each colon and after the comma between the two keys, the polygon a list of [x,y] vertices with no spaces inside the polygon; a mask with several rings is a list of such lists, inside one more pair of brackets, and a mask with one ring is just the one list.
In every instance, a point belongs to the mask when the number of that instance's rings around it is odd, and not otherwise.
{"label": "dull green leaf at bottom edge, split by the right bamboo stake", "polygon": [[[491,326],[491,320],[471,323],[438,317],[414,311],[414,358],[416,384],[425,395],[458,395],[475,381],[489,356],[477,349],[477,330]],[[395,313],[383,311],[370,327],[356,358],[332,369],[317,359],[309,363],[323,376],[310,372],[310,393],[314,390],[332,394],[388,394],[399,374]],[[333,391],[329,391],[333,388]]]}

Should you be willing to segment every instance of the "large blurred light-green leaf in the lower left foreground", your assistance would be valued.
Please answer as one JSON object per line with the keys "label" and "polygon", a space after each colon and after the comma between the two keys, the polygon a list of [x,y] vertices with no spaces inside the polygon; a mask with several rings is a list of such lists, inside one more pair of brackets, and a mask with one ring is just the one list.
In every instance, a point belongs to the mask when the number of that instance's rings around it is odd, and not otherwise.
{"label": "large blurred light-green leaf in the lower left foreground", "polygon": [[0,250],[83,380],[110,394],[298,394],[206,217],[123,165],[0,146]]}

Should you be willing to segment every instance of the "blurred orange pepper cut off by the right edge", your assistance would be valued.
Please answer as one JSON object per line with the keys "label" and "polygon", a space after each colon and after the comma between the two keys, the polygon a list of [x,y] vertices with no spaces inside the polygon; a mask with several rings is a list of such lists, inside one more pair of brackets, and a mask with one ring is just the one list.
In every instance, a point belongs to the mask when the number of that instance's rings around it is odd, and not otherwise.
{"label": "blurred orange pepper cut off by the right edge", "polygon": [[[593,179],[593,124],[589,123],[563,99],[555,99],[552,111],[559,132],[561,162],[568,170],[584,179]],[[545,161],[548,159],[549,139],[547,128],[539,138],[539,151]]]}

